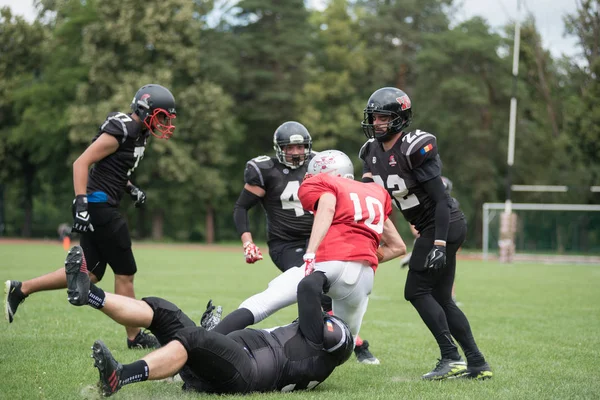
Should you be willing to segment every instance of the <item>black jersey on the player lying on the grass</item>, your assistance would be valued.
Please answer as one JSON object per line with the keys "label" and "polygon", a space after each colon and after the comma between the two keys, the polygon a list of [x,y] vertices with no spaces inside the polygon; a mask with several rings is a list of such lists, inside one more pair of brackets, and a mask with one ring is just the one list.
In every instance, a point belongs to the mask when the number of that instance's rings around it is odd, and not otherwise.
{"label": "black jersey on the player lying on the grass", "polygon": [[254,391],[312,389],[338,365],[334,356],[301,333],[298,322],[272,329],[243,329],[227,336],[242,343],[256,359]]}

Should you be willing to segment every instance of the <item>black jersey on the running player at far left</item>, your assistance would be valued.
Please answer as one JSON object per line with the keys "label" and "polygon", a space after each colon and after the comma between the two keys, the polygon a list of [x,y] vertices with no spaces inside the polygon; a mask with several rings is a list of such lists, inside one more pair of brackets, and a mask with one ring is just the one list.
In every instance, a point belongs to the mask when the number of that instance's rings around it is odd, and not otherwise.
{"label": "black jersey on the running player at far left", "polygon": [[90,196],[92,193],[103,192],[108,204],[116,206],[123,197],[129,176],[144,157],[150,133],[147,130],[142,133],[142,124],[133,120],[131,114],[121,112],[108,114],[92,143],[103,133],[114,136],[119,142],[119,148],[94,164],[89,173],[87,194]]}

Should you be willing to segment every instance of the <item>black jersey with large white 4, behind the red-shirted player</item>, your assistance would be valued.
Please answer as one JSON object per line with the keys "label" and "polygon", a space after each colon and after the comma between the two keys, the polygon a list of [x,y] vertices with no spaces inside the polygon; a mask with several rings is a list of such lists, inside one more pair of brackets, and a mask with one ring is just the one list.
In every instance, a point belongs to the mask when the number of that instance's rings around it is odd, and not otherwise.
{"label": "black jersey with large white 4, behind the red-shirted player", "polygon": [[266,192],[261,203],[267,214],[268,240],[287,242],[310,237],[314,217],[302,208],[298,198],[308,161],[296,169],[269,156],[256,157],[246,163],[244,182]]}

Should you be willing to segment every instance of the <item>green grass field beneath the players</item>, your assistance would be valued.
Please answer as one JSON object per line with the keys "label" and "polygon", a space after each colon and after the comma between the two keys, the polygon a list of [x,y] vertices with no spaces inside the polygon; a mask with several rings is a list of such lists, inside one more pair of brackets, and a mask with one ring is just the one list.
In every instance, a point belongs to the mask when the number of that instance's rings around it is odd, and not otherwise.
{"label": "green grass field beneath the players", "polygon": [[[266,249],[265,249],[266,250]],[[277,274],[270,260],[247,265],[240,252],[193,246],[134,248],[136,292],[165,297],[198,320],[209,298],[225,312],[263,290]],[[0,280],[25,280],[62,265],[59,244],[0,244]],[[266,257],[268,258],[268,257]],[[600,265],[538,265],[460,261],[457,296],[494,370],[484,382],[423,382],[439,357],[416,311],[403,298],[406,270],[383,264],[364,319],[379,366],[353,357],[313,391],[256,394],[267,399],[598,399],[600,398]],[[112,291],[112,272],[100,286]],[[289,307],[259,327],[295,318]],[[66,291],[37,293],[12,324],[0,324],[1,399],[97,399],[90,346],[103,339],[124,363],[125,330],[90,307],[68,304]],[[192,399],[179,383],[125,386],[120,399]],[[236,396],[220,396],[223,398]],[[241,396],[239,396],[241,397]]]}

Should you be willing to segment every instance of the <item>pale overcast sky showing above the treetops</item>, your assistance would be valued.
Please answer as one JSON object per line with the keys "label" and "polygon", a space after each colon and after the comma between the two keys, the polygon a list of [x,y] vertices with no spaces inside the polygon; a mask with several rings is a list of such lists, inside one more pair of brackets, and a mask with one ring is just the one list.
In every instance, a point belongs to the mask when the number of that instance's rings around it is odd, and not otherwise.
{"label": "pale overcast sky showing above the treetops", "polygon": [[[462,3],[457,17],[465,20],[475,15],[485,18],[492,27],[498,28],[514,21],[517,17],[518,0],[457,0]],[[542,35],[544,48],[549,49],[556,57],[565,54],[574,56],[581,50],[577,47],[574,37],[563,37],[563,16],[574,13],[575,0],[520,0],[521,16],[530,11],[537,22],[537,27]],[[307,0],[308,4],[320,8],[325,0]],[[13,13],[23,15],[28,20],[35,18],[33,0],[0,0],[1,6],[9,6]]]}

